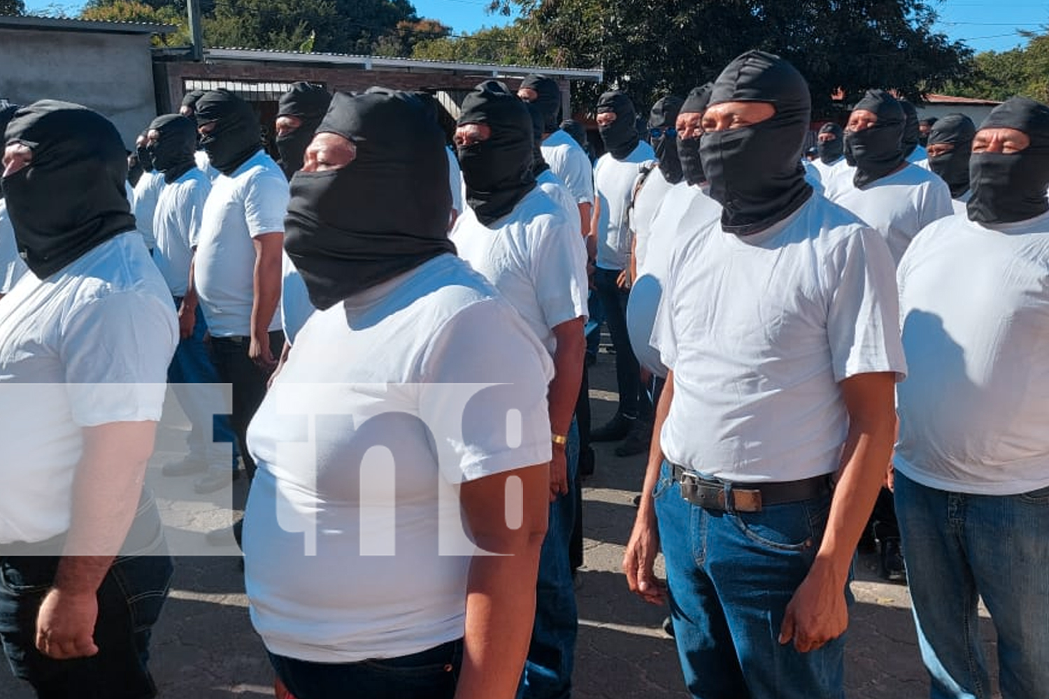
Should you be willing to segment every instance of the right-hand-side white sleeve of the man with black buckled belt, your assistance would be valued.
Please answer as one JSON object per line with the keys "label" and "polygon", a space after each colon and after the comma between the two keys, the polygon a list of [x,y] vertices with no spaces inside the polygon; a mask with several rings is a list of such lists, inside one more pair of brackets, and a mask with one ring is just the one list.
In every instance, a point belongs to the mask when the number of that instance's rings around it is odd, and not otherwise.
{"label": "right-hand-side white sleeve of the man with black buckled belt", "polygon": [[889,245],[876,231],[863,227],[844,240],[833,258],[825,283],[834,379],[894,371],[902,380],[907,370],[900,341],[896,264]]}

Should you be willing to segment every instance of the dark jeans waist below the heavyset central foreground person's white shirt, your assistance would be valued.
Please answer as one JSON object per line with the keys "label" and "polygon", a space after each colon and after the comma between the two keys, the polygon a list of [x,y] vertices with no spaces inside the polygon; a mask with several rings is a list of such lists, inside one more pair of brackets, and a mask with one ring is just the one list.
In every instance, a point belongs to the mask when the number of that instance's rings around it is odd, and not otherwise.
{"label": "dark jeans waist below the heavyset central foreground person's white shirt", "polygon": [[270,654],[295,699],[452,699],[463,662],[463,640],[399,658],[311,662]]}

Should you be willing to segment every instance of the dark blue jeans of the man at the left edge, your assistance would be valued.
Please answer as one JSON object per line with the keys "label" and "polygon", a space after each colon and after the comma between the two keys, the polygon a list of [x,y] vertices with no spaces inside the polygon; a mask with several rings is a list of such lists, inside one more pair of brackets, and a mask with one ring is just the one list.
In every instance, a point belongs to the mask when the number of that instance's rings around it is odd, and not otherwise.
{"label": "dark blue jeans of the man at the left edge", "polygon": [[[162,545],[163,546],[163,545]],[[59,555],[0,556],[0,640],[16,677],[41,699],[149,699],[150,630],[173,570],[167,547],[117,558],[99,587],[99,618],[88,658],[55,660],[36,647],[37,612],[55,582]]]}

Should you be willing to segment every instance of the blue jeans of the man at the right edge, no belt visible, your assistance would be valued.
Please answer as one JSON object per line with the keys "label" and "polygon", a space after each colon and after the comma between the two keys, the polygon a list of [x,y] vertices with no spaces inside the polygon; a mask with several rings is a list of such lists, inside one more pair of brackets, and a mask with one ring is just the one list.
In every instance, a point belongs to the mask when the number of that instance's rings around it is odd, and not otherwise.
{"label": "blue jeans of the man at the right edge, no belt visible", "polygon": [[1049,488],[947,493],[896,472],[907,583],[934,699],[989,699],[980,596],[998,630],[1003,699],[1049,698]]}

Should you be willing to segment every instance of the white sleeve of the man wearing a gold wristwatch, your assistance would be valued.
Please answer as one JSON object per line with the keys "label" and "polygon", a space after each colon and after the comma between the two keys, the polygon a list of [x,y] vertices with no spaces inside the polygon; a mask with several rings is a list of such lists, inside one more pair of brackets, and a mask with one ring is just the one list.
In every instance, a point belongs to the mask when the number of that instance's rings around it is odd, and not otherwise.
{"label": "white sleeve of the man wearing a gold wristwatch", "polygon": [[536,299],[547,327],[587,316],[586,244],[571,224],[557,222],[539,239],[531,261]]}

